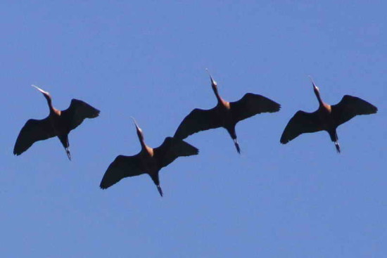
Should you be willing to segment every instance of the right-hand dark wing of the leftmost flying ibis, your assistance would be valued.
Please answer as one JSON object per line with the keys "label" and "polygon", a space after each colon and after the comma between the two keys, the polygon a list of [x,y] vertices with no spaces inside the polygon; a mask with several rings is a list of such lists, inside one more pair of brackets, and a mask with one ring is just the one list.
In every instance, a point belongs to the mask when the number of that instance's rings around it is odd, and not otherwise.
{"label": "right-hand dark wing of the leftmost flying ibis", "polygon": [[91,107],[84,101],[73,98],[68,109],[62,111],[62,116],[68,120],[70,130],[79,126],[85,118],[94,118],[99,116],[99,110]]}

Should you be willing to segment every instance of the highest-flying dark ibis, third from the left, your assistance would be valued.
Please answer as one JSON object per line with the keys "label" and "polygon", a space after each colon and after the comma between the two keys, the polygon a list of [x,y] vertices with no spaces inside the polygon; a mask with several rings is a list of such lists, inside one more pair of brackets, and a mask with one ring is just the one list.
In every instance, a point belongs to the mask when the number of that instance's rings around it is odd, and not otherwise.
{"label": "highest-flying dark ibis, third from the left", "polygon": [[212,79],[211,75],[210,79],[212,90],[217,98],[217,105],[210,110],[199,108],[192,110],[180,123],[174,137],[184,139],[198,131],[224,127],[233,139],[236,151],[241,153],[241,148],[239,148],[239,143],[236,140],[236,123],[262,112],[277,112],[281,105],[269,98],[253,93],[246,93],[239,101],[224,101],[217,90],[217,82]]}

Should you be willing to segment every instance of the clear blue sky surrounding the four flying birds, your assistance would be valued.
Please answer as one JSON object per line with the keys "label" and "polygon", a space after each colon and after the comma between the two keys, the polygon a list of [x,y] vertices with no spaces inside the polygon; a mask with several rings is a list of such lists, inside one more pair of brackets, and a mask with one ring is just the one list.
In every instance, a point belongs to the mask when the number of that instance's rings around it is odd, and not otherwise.
{"label": "clear blue sky surrounding the four flying birds", "polygon": [[[295,3],[297,2],[297,3]],[[355,4],[361,2],[361,4]],[[136,4],[137,3],[137,4]],[[141,4],[140,4],[141,3]],[[385,1],[2,1],[1,257],[386,257]],[[246,92],[281,111],[224,129],[160,172],[102,191],[115,156],[172,136],[193,108]],[[281,145],[297,110],[345,94],[379,108]],[[101,110],[20,156],[20,129],[79,98]],[[384,169],[383,169],[384,167]]]}

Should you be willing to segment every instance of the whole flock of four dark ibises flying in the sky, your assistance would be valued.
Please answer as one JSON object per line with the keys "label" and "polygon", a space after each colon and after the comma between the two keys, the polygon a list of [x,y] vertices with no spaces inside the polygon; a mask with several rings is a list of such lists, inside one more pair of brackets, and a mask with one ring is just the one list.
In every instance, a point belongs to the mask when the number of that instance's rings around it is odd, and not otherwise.
{"label": "whole flock of four dark ibises flying in the sky", "polygon": [[[224,127],[233,139],[236,151],[241,153],[241,148],[239,148],[238,141],[236,140],[236,123],[262,112],[278,112],[281,108],[281,105],[278,103],[254,93],[246,93],[239,101],[225,101],[220,96],[217,90],[217,82],[212,79],[211,75],[210,80],[212,90],[217,98],[215,108],[210,110],[196,108],[192,110],[181,122],[175,135],[165,138],[163,144],[158,146],[158,148],[151,148],[146,145],[144,134],[133,118],[141,144],[141,151],[134,156],[118,155],[103,175],[100,187],[106,189],[125,177],[146,173],[151,176],[158,188],[158,192],[163,196],[158,176],[160,169],[169,165],[177,157],[198,154],[198,149],[183,141],[184,138],[198,131]],[[310,80],[319,101],[319,108],[315,112],[305,112],[302,110],[296,112],[296,115],[286,125],[280,142],[283,144],[288,143],[288,141],[293,140],[293,138],[300,134],[327,131],[331,141],[336,146],[337,152],[340,153],[336,128],[356,115],[374,114],[378,109],[361,98],[349,95],[343,96],[336,105],[324,103],[320,96],[319,88],[315,85],[312,78]],[[68,134],[82,124],[84,119],[98,117],[99,110],[77,99],[72,99],[68,109],[57,110],[52,105],[50,94],[37,86],[34,87],[43,93],[44,98],[46,98],[49,104],[50,113],[43,120],[30,119],[25,123],[16,140],[13,154],[20,155],[35,142],[58,136],[65,148],[68,159],[71,160]]]}

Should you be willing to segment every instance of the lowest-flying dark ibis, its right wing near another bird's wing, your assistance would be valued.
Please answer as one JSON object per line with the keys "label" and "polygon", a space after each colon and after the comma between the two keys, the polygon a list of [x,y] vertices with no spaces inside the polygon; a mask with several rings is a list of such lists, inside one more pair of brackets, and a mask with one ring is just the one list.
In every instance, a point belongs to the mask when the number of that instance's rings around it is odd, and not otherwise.
{"label": "lowest-flying dark ibis, its right wing near another bird's wing", "polygon": [[170,165],[177,157],[197,155],[198,149],[185,141],[172,137],[165,138],[163,144],[158,148],[151,148],[145,144],[142,130],[134,118],[133,121],[141,143],[141,151],[134,156],[118,155],[103,175],[100,187],[106,189],[125,177],[139,176],[146,173],[151,176],[158,192],[163,196],[158,178],[160,169]]}

